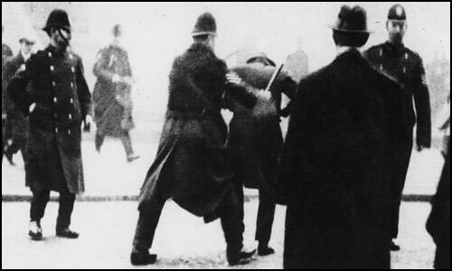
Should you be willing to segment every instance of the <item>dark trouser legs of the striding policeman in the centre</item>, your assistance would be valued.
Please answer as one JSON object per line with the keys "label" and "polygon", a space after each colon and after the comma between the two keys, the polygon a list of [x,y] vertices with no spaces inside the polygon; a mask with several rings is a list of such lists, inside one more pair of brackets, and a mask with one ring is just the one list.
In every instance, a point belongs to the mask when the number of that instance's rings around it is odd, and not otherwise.
{"label": "dark trouser legs of the striding policeman in the centre", "polygon": [[[149,206],[146,210],[140,210],[133,240],[134,250],[146,252],[149,248],[152,248],[155,229],[157,228],[165,201],[163,199],[160,202],[155,202],[155,204]],[[244,228],[241,224],[243,219],[240,216],[238,202],[235,192],[230,190],[219,207],[221,228],[223,229],[224,238],[228,246],[228,253],[238,253],[243,247],[242,233]]]}

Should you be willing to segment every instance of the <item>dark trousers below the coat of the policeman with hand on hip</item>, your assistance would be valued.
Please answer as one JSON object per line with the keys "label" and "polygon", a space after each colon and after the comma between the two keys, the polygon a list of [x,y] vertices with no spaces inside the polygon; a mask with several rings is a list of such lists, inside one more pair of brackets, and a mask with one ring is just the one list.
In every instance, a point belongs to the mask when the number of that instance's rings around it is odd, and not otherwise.
{"label": "dark trousers below the coat of the policeman with hand on hip", "polygon": [[[45,207],[50,199],[50,190],[34,191],[32,207],[30,209],[30,219],[40,221],[44,216]],[[71,225],[71,214],[74,209],[75,194],[65,191],[60,192],[60,208],[56,228],[66,228]]]}

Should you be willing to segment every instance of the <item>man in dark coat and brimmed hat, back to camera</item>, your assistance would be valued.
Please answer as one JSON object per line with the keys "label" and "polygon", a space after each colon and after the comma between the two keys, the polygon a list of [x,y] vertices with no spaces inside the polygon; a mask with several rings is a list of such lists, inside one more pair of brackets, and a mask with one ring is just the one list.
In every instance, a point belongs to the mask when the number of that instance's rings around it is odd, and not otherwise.
{"label": "man in dark coat and brimmed hat, back to camera", "polygon": [[285,268],[390,268],[386,161],[401,136],[400,89],[358,51],[368,37],[363,8],[344,5],[338,56],[298,86],[278,183]]}

